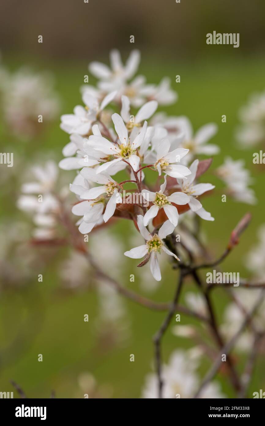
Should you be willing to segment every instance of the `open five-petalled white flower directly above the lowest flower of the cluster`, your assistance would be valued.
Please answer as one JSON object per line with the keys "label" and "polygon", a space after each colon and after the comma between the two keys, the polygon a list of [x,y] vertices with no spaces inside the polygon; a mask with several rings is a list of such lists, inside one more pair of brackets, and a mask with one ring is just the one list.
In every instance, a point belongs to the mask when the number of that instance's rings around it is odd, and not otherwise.
{"label": "open five-petalled white flower directly above the lowest flower of the cluster", "polygon": [[174,192],[170,196],[165,195],[166,188],[166,175],[164,178],[164,183],[160,186],[159,192],[151,192],[146,189],[142,190],[142,196],[147,200],[151,201],[153,205],[150,209],[145,213],[143,219],[143,225],[147,226],[151,219],[157,216],[157,213],[160,209],[164,209],[165,214],[168,216],[168,219],[174,225],[177,226],[179,220],[179,213],[177,211],[177,207],[173,206],[171,203],[175,204],[187,204],[190,201],[190,197],[182,192]]}

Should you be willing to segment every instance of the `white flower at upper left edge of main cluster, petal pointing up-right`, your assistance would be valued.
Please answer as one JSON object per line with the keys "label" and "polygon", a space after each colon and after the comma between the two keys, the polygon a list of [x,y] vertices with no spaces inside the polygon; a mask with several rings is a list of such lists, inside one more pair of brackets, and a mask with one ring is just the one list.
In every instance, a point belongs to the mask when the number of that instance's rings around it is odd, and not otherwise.
{"label": "white flower at upper left edge of main cluster, petal pointing up-right", "polygon": [[[79,135],[88,135],[91,130],[92,123],[97,120],[103,109],[111,102],[116,96],[116,92],[111,92],[99,104],[97,98],[94,98],[88,92],[83,93],[83,102],[85,108],[81,105],[74,107],[74,114],[64,114],[61,116],[62,123],[60,127],[67,133],[77,133]],[[66,146],[67,147],[67,146]],[[71,155],[72,149],[64,148],[64,155]],[[71,147],[72,148],[72,145]]]}

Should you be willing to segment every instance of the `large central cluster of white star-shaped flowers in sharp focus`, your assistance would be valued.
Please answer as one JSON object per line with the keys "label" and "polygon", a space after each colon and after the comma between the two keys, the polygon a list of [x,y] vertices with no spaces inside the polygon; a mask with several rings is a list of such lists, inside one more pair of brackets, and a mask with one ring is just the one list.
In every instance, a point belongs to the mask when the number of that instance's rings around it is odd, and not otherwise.
{"label": "large central cluster of white star-shaped flowers in sharp focus", "polygon": [[[155,87],[138,77],[128,83],[139,59],[139,52],[133,51],[124,66],[114,50],[111,68],[97,62],[90,64],[90,72],[100,81],[97,88],[83,88],[85,106],[78,105],[74,114],[61,118],[61,128],[70,134],[70,142],[63,148],[65,158],[59,166],[64,170],[81,169],[70,190],[79,200],[72,213],[81,216],[77,224],[83,234],[112,216],[125,217],[125,209],[120,208],[125,183],[134,185],[143,199],[150,202],[148,209],[143,203],[128,207],[129,217],[145,244],[126,251],[125,256],[145,257],[144,263],[150,260],[151,273],[160,280],[157,255],[161,250],[179,260],[163,242],[178,225],[179,210],[185,206],[185,210],[190,209],[202,219],[214,220],[199,201],[214,186],[196,182],[201,173],[199,160],[194,156],[218,152],[215,145],[206,145],[217,126],[207,124],[193,135],[188,119],[167,120],[159,114],[148,125],[159,104],[169,104],[176,96],[165,82]],[[118,112],[111,114],[107,109],[110,104]],[[133,114],[131,107],[139,106]],[[157,183],[153,187],[147,186],[143,171],[146,168],[156,173]],[[127,178],[119,182],[116,176],[121,171],[127,173]]]}

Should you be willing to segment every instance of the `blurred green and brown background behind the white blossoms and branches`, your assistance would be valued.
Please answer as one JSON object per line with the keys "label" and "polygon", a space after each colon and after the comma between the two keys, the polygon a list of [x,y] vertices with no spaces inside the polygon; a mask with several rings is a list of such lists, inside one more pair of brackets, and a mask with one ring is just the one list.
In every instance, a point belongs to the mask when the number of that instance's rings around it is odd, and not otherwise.
{"label": "blurred green and brown background behind the white blossoms and branches", "polygon": [[[252,92],[265,87],[265,4],[259,1],[80,1],[18,2],[3,1],[0,5],[0,40],[3,65],[11,72],[20,66],[30,66],[34,71],[48,70],[54,74],[55,89],[61,97],[61,113],[71,113],[81,103],[80,86],[88,73],[92,60],[108,63],[108,51],[117,47],[128,56],[132,48],[142,54],[137,74],[146,75],[148,83],[158,83],[169,76],[179,100],[170,107],[159,108],[170,115],[187,115],[197,130],[208,122],[216,122],[219,132],[213,143],[221,153],[202,181],[216,184],[216,193],[205,198],[203,206],[214,216],[214,222],[202,223],[208,237],[211,253],[218,256],[224,250],[229,235],[239,219],[248,211],[253,214],[239,246],[225,260],[225,271],[239,271],[248,276],[244,267],[248,250],[257,242],[257,229],[264,222],[265,174],[262,167],[254,166],[252,153],[258,149],[241,151],[237,148],[234,131],[238,124],[238,110]],[[206,33],[239,32],[240,47],[207,46]],[[43,35],[43,44],[37,36]],[[130,35],[135,43],[129,43]],[[175,75],[181,82],[175,83]],[[89,75],[89,83],[95,80]],[[222,123],[225,114],[227,122]],[[19,154],[23,168],[40,153],[45,158],[59,161],[68,135],[59,128],[60,116],[34,140],[18,139],[11,135],[2,122],[0,127],[1,150]],[[212,170],[222,164],[225,156],[245,159],[246,167],[255,178],[254,189],[258,204],[248,206],[228,199],[221,202],[222,183]],[[8,170],[9,172],[9,170]],[[71,173],[66,181],[71,181]],[[12,222],[28,220],[16,208],[17,196],[23,176],[13,176],[3,185],[0,199],[1,221],[11,229]],[[129,236],[136,233],[125,220],[114,225],[111,232],[124,250],[132,247]],[[49,250],[49,249],[48,249]],[[110,248],[111,250],[111,248]],[[42,251],[40,250],[40,256]],[[95,291],[62,290],[58,274],[60,262],[67,249],[51,253],[41,271],[42,283],[32,279],[27,285],[8,287],[0,293],[0,390],[13,390],[9,380],[14,380],[28,397],[49,397],[54,390],[57,397],[83,397],[80,376],[91,373],[97,380],[101,394],[108,397],[138,398],[145,374],[151,371],[153,359],[152,336],[159,328],[165,313],[148,311],[125,301],[130,321],[131,335],[124,345],[108,347],[99,344],[94,319],[98,311]],[[107,260],[106,260],[107,262]],[[160,286],[153,293],[141,287],[140,273],[135,261],[122,257],[120,283],[157,301],[172,299],[176,272],[170,264],[163,271]],[[148,268],[148,267],[146,267]],[[110,265],[111,271],[111,265]],[[205,276],[203,271],[202,278]],[[130,274],[135,282],[130,282]],[[146,276],[146,275],[145,275]],[[149,276],[151,280],[151,275]],[[87,277],[90,282],[90,276]],[[185,291],[196,291],[193,283],[186,282]],[[181,302],[184,300],[182,295]],[[222,290],[215,290],[214,305],[219,322],[228,298]],[[89,314],[89,322],[83,315]],[[194,323],[182,315],[181,323]],[[174,324],[172,324],[174,325]],[[204,331],[202,331],[204,333]],[[168,360],[175,348],[190,348],[189,340],[174,337],[171,327],[163,340],[163,358]],[[37,354],[43,354],[43,362]],[[129,361],[134,354],[135,362]],[[239,369],[245,357],[235,355]],[[205,359],[201,374],[210,363]],[[219,374],[222,390],[234,397],[228,377]],[[265,363],[259,357],[251,382],[251,391],[265,388]]]}

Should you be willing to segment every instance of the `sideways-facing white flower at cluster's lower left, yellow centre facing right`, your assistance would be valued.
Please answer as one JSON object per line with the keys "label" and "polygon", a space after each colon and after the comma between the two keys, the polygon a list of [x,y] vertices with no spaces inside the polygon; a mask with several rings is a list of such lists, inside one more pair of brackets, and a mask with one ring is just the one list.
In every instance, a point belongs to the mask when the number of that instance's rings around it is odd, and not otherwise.
{"label": "sideways-facing white flower at cluster's lower left, yellow centre facing right", "polygon": [[94,200],[97,197],[106,194],[108,202],[103,214],[103,219],[104,222],[108,222],[108,219],[114,214],[116,204],[122,202],[122,198],[119,194],[119,185],[106,173],[97,174],[95,169],[89,169],[88,167],[84,167],[80,174],[86,180],[103,184],[103,186],[94,187],[81,193],[80,198],[83,200]]}

